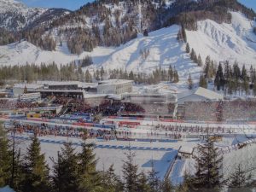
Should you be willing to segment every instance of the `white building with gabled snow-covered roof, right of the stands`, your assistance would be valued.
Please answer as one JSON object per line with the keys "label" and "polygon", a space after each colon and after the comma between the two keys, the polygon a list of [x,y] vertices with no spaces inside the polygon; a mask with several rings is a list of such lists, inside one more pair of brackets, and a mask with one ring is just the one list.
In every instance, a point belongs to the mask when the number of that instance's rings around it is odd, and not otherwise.
{"label": "white building with gabled snow-covered roof, right of the stands", "polygon": [[177,103],[183,105],[184,102],[207,102],[224,100],[224,96],[212,90],[199,87],[197,90],[177,94]]}

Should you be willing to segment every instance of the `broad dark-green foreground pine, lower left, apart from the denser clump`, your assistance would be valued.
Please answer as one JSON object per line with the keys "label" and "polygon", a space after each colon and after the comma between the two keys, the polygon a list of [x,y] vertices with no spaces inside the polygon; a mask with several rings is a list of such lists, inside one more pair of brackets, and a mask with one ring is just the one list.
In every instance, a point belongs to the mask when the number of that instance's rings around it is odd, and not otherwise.
{"label": "broad dark-green foreground pine, lower left, apart from the denser clump", "polygon": [[49,184],[49,167],[46,165],[44,154],[41,154],[38,137],[32,137],[32,143],[27,148],[26,159],[23,165],[25,170],[25,180],[23,190],[30,192],[48,192]]}

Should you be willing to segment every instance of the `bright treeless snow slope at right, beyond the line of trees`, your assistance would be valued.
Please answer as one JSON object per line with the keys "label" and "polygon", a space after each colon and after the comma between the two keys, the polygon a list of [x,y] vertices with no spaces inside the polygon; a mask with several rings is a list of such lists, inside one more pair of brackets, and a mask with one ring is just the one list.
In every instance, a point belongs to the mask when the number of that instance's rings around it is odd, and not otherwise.
{"label": "bright treeless snow slope at right, beyond the line of trees", "polygon": [[238,61],[247,67],[256,67],[256,36],[252,20],[244,15],[231,12],[231,24],[218,24],[212,20],[198,22],[198,31],[187,31],[190,48],[201,54],[204,60],[207,55],[215,61]]}

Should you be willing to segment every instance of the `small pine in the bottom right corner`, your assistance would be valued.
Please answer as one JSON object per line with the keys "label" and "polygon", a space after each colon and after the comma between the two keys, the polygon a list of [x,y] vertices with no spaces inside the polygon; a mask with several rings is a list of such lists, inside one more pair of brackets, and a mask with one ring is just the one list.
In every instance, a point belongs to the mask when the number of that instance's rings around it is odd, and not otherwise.
{"label": "small pine in the bottom right corner", "polygon": [[241,164],[235,167],[235,171],[230,174],[229,182],[229,192],[250,192],[253,191],[249,189],[249,181],[251,180],[251,175],[247,174],[242,170]]}

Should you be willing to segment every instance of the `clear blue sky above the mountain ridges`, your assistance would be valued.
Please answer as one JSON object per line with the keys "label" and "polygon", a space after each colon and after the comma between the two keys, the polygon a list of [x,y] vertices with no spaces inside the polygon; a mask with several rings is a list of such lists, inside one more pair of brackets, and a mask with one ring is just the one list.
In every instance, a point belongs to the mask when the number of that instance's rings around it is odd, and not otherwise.
{"label": "clear blue sky above the mountain ridges", "polygon": [[[70,10],[79,9],[82,5],[92,2],[93,0],[20,0],[29,7],[44,7],[44,8],[65,8]],[[256,12],[255,0],[238,0],[244,3],[247,7],[253,8]]]}

